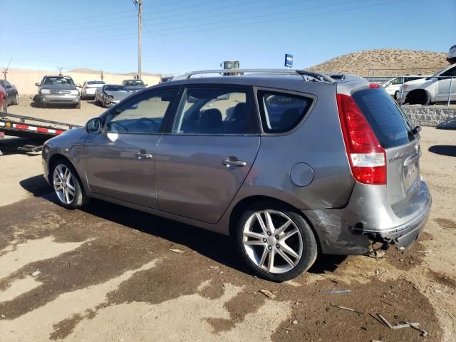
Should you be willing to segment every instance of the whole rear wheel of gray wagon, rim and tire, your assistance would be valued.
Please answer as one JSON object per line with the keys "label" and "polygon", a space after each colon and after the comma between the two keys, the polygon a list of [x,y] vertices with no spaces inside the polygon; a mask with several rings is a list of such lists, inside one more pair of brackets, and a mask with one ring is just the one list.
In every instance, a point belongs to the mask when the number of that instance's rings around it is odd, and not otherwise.
{"label": "whole rear wheel of gray wagon, rim and tire", "polygon": [[299,213],[274,204],[247,209],[237,224],[242,259],[261,278],[286,281],[307,271],[317,256],[317,242]]}

